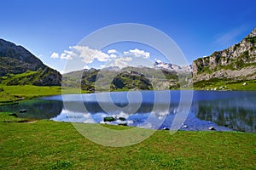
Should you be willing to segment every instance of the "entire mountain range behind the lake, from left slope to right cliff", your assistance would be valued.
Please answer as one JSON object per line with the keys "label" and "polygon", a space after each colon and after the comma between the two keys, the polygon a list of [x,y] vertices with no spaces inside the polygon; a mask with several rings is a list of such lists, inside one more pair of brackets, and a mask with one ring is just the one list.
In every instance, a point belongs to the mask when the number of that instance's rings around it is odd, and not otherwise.
{"label": "entire mountain range behind the lake, from left slope to right cliff", "polygon": [[176,89],[180,88],[182,82],[188,82],[183,88],[189,88],[192,82],[195,86],[200,84],[202,88],[212,81],[255,80],[255,42],[256,28],[241,42],[210,56],[195,59],[192,65],[180,66],[156,60],[150,68],[129,66],[121,69],[112,66],[73,71],[61,76],[26,48],[0,39],[0,82],[5,85],[60,86],[62,80],[63,86],[94,92],[108,88]]}

